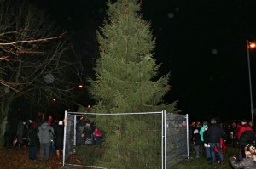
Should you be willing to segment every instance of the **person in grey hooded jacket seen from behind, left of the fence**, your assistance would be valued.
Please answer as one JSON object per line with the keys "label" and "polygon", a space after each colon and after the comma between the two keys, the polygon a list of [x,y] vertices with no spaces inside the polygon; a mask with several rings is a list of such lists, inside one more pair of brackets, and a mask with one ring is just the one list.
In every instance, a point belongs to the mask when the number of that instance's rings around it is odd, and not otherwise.
{"label": "person in grey hooded jacket seen from behind, left of the fence", "polygon": [[38,127],[38,138],[40,142],[40,160],[49,160],[49,148],[54,136],[54,129],[53,127],[48,125],[48,121],[44,121],[40,125],[40,127]]}

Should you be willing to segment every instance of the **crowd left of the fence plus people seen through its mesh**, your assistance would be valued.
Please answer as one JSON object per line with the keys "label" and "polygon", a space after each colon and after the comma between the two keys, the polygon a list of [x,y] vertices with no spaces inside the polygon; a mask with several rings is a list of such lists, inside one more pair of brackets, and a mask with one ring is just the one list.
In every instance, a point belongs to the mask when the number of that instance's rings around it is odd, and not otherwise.
{"label": "crowd left of the fence plus people seen through its mesh", "polygon": [[[4,147],[28,149],[28,158],[32,161],[38,159],[38,149],[39,159],[42,161],[48,161],[51,155],[60,158],[63,153],[64,122],[54,121],[51,115],[43,118],[41,122],[19,121],[15,138],[12,139],[10,135],[10,127],[7,123]],[[99,132],[98,127],[81,117],[76,125],[76,144],[101,145],[102,133]]]}

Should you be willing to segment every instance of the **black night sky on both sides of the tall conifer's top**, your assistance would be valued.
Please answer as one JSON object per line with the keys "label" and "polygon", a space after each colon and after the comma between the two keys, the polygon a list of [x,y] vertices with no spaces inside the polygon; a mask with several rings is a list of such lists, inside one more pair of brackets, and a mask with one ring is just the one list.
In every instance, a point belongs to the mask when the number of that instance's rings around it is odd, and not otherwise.
{"label": "black night sky on both sides of the tall conifer's top", "polygon": [[[104,0],[40,2],[82,45],[105,16]],[[246,40],[256,41],[256,1],[143,0],[142,8],[157,37],[160,74],[172,73],[166,102],[178,99],[178,109],[195,120],[250,119]],[[256,100],[256,52],[250,58]]]}

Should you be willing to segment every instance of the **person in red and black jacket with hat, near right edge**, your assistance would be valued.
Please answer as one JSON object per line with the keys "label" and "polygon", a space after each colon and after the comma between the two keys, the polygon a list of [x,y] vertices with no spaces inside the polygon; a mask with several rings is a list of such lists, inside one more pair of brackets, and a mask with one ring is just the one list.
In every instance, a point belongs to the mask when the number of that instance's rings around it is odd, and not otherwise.
{"label": "person in red and black jacket with hat, near right edge", "polygon": [[246,145],[253,144],[253,141],[254,141],[253,128],[247,124],[246,119],[241,120],[241,127],[237,132],[237,139],[239,142],[240,152],[241,152],[239,160],[242,160],[242,158],[246,157],[246,154],[245,154]]}

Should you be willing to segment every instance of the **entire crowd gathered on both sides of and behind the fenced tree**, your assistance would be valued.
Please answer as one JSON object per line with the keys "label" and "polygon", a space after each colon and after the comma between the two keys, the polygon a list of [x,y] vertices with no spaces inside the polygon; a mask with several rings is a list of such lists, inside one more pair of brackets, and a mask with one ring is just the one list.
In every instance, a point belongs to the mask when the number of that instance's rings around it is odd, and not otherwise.
{"label": "entire crowd gathered on both sides of and behind the fenced tree", "polygon": [[[6,125],[9,131],[9,124]],[[76,144],[91,145],[102,144],[102,133],[98,127],[83,117],[77,121]],[[8,132],[5,138],[9,139]],[[215,118],[211,121],[192,122],[190,125],[191,141],[195,148],[195,158],[204,156],[209,164],[224,164],[226,144],[239,147],[237,155],[230,158],[233,168],[256,168],[255,140],[256,132],[251,121],[246,119],[231,122],[230,124],[219,123]],[[28,148],[30,160],[36,160],[38,149],[39,159],[48,161],[50,154],[61,157],[63,150],[64,124],[63,121],[53,121],[49,116],[40,124],[36,121],[20,121],[13,143],[5,141],[6,148]],[[202,147],[202,153],[200,148]]]}

